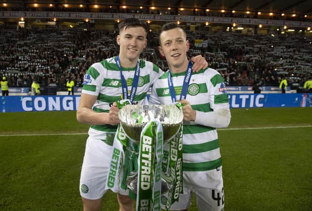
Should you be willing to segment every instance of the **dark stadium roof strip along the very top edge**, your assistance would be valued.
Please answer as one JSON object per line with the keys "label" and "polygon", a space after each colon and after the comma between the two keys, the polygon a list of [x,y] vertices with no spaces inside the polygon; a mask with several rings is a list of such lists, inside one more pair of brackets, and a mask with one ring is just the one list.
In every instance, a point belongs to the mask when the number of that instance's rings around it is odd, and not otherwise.
{"label": "dark stadium roof strip along the very top edge", "polygon": [[98,4],[209,8],[237,11],[312,14],[312,0],[6,0],[5,3]]}

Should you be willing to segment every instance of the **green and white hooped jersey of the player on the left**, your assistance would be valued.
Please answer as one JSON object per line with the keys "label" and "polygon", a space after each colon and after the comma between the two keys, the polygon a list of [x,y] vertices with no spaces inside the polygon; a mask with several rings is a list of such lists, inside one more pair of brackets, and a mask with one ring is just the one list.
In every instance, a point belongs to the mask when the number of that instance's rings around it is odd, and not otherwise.
{"label": "green and white hooped jersey of the player on the left", "polygon": [[[134,68],[122,68],[122,74],[127,81],[128,91],[132,87],[135,74]],[[155,64],[143,59],[140,60],[140,76],[138,88],[133,103],[145,104],[146,94],[150,86],[163,74]],[[96,95],[93,110],[96,112],[109,112],[110,105],[121,99],[120,71],[115,62],[115,57],[94,63],[86,72],[81,93]],[[129,93],[128,93],[129,94]],[[115,132],[117,126],[93,125],[89,128],[89,135],[104,140],[106,132]]]}

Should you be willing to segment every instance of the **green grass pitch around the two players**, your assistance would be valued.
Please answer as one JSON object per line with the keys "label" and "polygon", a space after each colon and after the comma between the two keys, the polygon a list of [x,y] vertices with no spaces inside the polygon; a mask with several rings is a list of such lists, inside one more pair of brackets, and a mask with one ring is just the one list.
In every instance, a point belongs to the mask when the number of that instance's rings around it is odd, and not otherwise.
{"label": "green grass pitch around the two players", "polygon": [[[230,127],[218,130],[225,210],[312,211],[312,108],[231,113]],[[0,210],[82,210],[87,130],[75,112],[1,113]],[[114,193],[103,210],[118,211]]]}

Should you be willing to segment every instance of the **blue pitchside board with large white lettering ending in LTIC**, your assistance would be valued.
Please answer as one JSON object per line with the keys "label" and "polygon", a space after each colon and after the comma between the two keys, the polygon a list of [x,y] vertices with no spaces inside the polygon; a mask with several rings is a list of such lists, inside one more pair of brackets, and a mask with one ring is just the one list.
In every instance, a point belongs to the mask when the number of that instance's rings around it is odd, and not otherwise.
{"label": "blue pitchside board with large white lettering ending in LTIC", "polygon": [[[230,108],[312,107],[312,94],[228,94]],[[1,112],[76,111],[79,95],[1,96]]]}

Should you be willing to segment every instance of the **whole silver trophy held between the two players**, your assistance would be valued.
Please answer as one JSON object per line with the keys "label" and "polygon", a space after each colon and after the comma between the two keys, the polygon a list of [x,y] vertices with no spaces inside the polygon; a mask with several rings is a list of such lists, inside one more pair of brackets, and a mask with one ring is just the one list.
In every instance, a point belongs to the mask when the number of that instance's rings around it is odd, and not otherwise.
{"label": "whole silver trophy held between the two players", "polygon": [[[183,112],[176,105],[126,105],[119,110],[120,124],[129,138],[127,153],[128,159],[133,159],[139,154],[141,131],[149,122],[157,120],[162,125],[163,142],[168,144],[177,135],[183,122]],[[135,160],[135,159],[134,159]],[[137,162],[137,160],[135,161]],[[127,166],[128,164],[126,164]],[[169,190],[171,182],[161,178],[161,193]],[[131,169],[127,175],[127,187],[134,193],[137,192],[138,171]]]}

